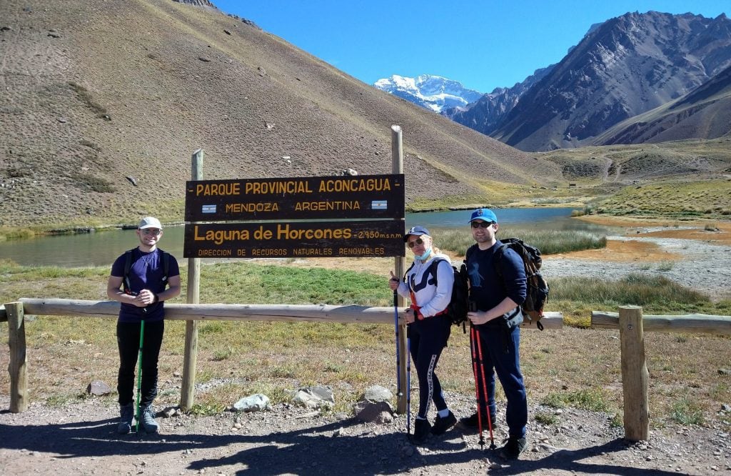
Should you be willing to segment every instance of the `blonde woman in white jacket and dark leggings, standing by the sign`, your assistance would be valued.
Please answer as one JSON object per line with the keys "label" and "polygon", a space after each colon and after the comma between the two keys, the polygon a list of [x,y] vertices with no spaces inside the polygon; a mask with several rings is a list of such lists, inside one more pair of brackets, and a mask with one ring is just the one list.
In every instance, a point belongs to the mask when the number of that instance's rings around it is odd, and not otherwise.
{"label": "blonde woman in white jacket and dark leggings, standing by the sign", "polygon": [[[404,242],[414,253],[414,262],[404,280],[391,272],[390,288],[411,300],[406,310],[409,352],[419,377],[419,412],[414,421],[414,441],[423,442],[428,434],[440,435],[452,428],[457,419],[450,412],[437,378],[436,364],[450,338],[452,323],[447,305],[452,297],[454,272],[449,256],[433,246],[429,231],[413,226],[404,234]],[[431,402],[436,406],[436,420],[427,420]]]}

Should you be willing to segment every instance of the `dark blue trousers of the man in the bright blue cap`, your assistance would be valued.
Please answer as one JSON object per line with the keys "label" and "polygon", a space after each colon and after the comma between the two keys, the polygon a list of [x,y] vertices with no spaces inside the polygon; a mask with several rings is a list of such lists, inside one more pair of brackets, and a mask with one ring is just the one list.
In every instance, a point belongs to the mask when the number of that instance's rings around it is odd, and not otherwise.
{"label": "dark blue trousers of the man in the bright blue cap", "polygon": [[507,330],[502,326],[493,325],[479,326],[474,329],[477,330],[482,348],[482,365],[488,393],[488,402],[485,405],[482,369],[478,363],[477,385],[480,395],[478,402],[480,411],[484,414],[485,409],[489,407],[491,414],[496,412],[495,374],[497,373],[507,398],[505,419],[508,431],[510,436],[523,438],[526,436],[526,425],[528,424],[528,399],[526,398],[526,386],[523,384],[523,374],[520,373],[520,327]]}

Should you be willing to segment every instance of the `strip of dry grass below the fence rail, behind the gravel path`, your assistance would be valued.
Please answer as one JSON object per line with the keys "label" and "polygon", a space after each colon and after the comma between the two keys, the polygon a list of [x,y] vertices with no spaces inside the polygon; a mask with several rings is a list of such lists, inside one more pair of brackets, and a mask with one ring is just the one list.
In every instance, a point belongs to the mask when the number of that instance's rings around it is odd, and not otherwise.
{"label": "strip of dry grass below the fence rail, behind the gravel path", "polygon": [[[166,324],[160,358],[160,405],[178,403],[183,365],[184,324]],[[1,334],[4,334],[5,329]],[[112,319],[39,317],[26,324],[31,401],[62,404],[81,398],[86,384],[114,384],[116,366]],[[207,322],[200,324],[196,403],[223,409],[250,393],[287,398],[289,390],[311,384],[335,389],[346,409],[366,387],[394,387],[393,327],[379,324],[276,324]],[[91,337],[93,336],[93,337]],[[324,336],[326,336],[324,338]],[[327,343],[323,341],[327,340]],[[312,343],[312,342],[315,343]],[[691,399],[705,421],[718,418],[731,398],[729,338],[648,332],[652,424],[673,418],[673,406]],[[702,349],[702,352],[700,352]],[[622,407],[618,331],[523,332],[523,373],[531,401],[593,391],[608,412]],[[445,390],[474,391],[469,339],[454,329],[439,363]],[[7,365],[2,353],[0,365]],[[7,373],[0,379],[7,388]]]}

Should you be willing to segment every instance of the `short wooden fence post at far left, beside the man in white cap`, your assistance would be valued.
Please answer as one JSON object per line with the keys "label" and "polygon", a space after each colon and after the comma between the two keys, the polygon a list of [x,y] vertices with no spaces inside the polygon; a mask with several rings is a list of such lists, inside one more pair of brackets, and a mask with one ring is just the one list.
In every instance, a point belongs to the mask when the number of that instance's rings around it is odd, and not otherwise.
{"label": "short wooden fence post at far left, beside the man in white cap", "polygon": [[10,347],[10,412],[20,413],[28,409],[28,358],[26,356],[26,321],[23,303],[5,305],[7,313],[7,337]]}

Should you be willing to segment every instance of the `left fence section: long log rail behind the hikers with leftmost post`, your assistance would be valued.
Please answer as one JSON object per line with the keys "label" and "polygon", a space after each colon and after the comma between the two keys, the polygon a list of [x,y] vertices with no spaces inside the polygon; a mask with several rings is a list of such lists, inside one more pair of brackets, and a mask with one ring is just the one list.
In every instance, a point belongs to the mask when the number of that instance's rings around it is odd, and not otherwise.
{"label": "left fence section: long log rail behind the hikers with leftmost post", "polygon": [[[10,343],[10,411],[24,412],[28,408],[28,376],[26,365],[26,332],[23,316],[75,316],[116,319],[120,303],[116,301],[86,301],[63,299],[21,298],[0,308],[0,321],[8,321]],[[403,311],[403,308],[401,308]],[[561,313],[545,313],[541,320],[545,329],[561,329]],[[393,326],[393,307],[366,307],[359,305],[263,305],[263,304],[165,304],[165,319],[173,321],[306,321],[343,322],[348,324],[373,323]],[[404,319],[403,312],[399,319]],[[535,329],[531,323],[526,329]],[[187,352],[187,350],[186,350]],[[406,355],[401,362],[406,369]],[[194,387],[194,375],[187,387]]]}

